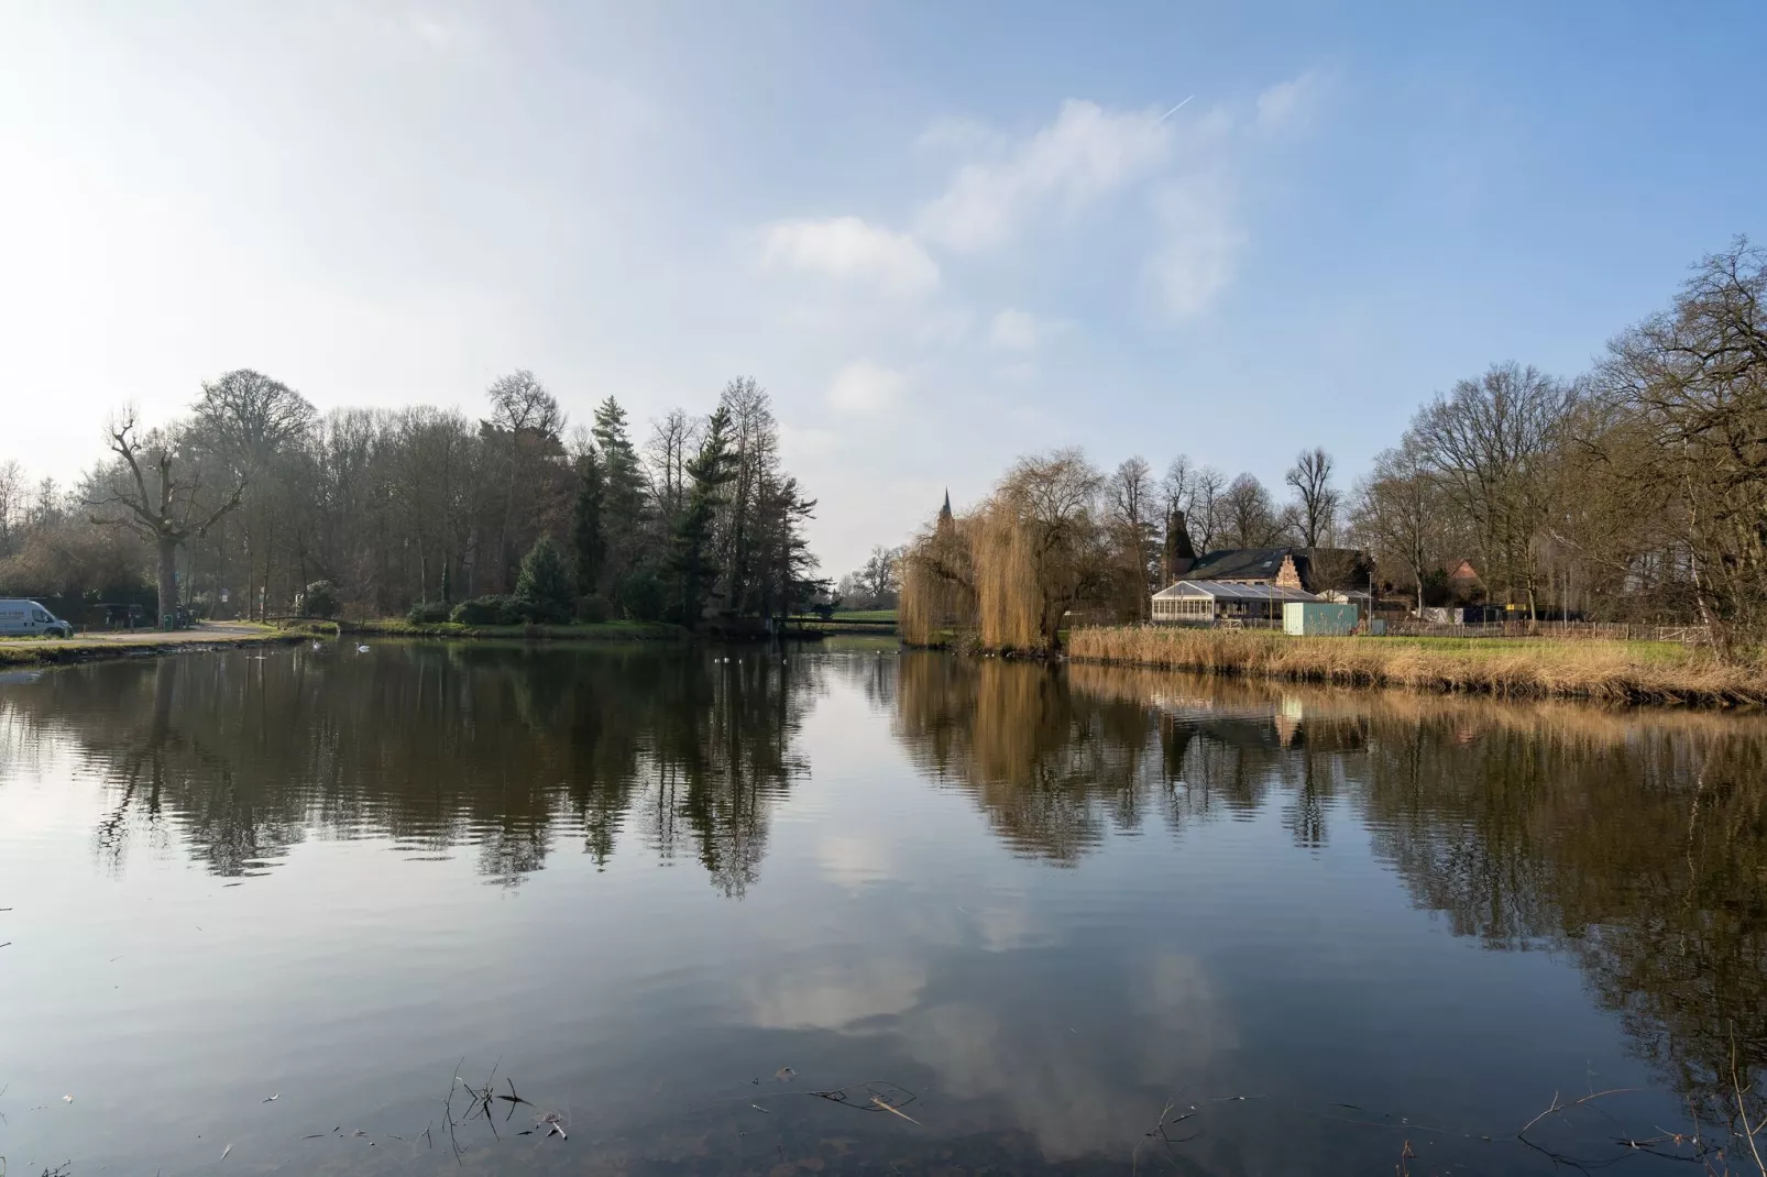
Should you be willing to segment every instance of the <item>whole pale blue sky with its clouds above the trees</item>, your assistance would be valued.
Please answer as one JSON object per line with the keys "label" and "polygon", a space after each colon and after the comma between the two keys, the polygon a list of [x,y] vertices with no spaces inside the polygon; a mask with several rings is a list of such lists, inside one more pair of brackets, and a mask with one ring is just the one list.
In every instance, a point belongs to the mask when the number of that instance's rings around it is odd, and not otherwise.
{"label": "whole pale blue sky with its clouds above the trees", "polygon": [[[322,408],[770,389],[825,569],[1080,444],[1348,482],[1767,239],[1767,9],[0,7],[0,461]],[[1173,106],[1184,103],[1179,110]],[[1170,113],[1168,113],[1170,111]],[[19,412],[16,406],[27,406]]]}

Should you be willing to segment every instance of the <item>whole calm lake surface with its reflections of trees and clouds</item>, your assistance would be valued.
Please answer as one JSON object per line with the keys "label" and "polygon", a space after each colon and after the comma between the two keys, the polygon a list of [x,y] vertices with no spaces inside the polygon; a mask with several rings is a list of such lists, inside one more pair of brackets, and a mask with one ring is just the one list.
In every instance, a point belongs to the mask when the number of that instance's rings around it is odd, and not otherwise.
{"label": "whole calm lake surface with its reflections of trees and clouds", "polygon": [[0,1168],[1700,1172],[1763,783],[1746,716],[859,640],[12,673]]}

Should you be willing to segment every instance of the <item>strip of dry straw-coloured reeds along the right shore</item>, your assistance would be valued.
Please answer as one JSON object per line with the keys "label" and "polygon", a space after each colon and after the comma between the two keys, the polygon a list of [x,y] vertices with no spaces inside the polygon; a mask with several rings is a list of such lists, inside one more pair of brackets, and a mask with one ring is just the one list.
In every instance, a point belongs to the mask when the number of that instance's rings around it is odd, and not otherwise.
{"label": "strip of dry straw-coloured reeds along the right shore", "polygon": [[1767,703],[1767,673],[1709,652],[1647,657],[1626,643],[1527,649],[1430,649],[1391,638],[1290,638],[1267,631],[1117,626],[1076,629],[1069,657],[1203,675],[1290,682],[1401,686],[1498,698],[1587,698],[1622,703]]}

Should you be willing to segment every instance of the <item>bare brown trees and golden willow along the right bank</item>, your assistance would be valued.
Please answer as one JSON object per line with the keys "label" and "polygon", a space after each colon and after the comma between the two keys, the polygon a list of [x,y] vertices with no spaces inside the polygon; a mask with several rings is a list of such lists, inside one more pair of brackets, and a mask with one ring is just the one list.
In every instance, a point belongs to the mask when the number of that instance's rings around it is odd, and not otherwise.
{"label": "bare brown trees and golden willow along the right bank", "polygon": [[1437,394],[1348,495],[1322,449],[1285,505],[1184,456],[1164,479],[1141,458],[1106,474],[1074,449],[1027,456],[908,548],[903,633],[1043,650],[1074,610],[1143,619],[1182,528],[1198,555],[1357,548],[1419,606],[1695,622],[1749,656],[1767,634],[1763,308],[1767,253],[1739,240],[1589,373],[1493,364]]}

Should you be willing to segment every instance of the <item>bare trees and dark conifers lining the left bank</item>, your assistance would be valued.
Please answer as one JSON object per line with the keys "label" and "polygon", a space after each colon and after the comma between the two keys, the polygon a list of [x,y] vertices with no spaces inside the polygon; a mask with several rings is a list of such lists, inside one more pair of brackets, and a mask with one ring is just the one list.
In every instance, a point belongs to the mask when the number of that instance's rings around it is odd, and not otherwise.
{"label": "bare trees and dark conifers lining the left bank", "polygon": [[825,590],[802,534],[815,502],[785,472],[753,378],[641,442],[613,398],[567,428],[528,371],[486,401],[482,419],[322,415],[242,369],[203,385],[186,419],[147,428],[122,410],[76,488],[0,467],[0,590],[155,615],[177,601],[219,617],[440,620],[468,603],[474,620],[687,626],[786,615]]}

